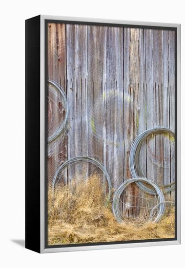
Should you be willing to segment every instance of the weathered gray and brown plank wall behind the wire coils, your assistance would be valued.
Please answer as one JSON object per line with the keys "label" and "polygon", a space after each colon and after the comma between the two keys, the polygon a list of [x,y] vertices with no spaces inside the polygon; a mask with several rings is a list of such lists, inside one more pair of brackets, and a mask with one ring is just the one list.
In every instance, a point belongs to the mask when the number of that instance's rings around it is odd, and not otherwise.
{"label": "weathered gray and brown plank wall behind the wire coils", "polygon": [[[66,159],[90,155],[103,162],[117,189],[131,177],[128,155],[134,138],[156,126],[174,130],[174,77],[173,31],[49,23],[48,78],[66,92],[70,117],[60,149],[52,154],[48,146],[48,181]],[[156,158],[171,161],[173,146],[163,135],[143,146],[141,161],[149,179],[174,180],[174,162],[165,168],[154,163]],[[134,187],[129,193],[138,194]]]}

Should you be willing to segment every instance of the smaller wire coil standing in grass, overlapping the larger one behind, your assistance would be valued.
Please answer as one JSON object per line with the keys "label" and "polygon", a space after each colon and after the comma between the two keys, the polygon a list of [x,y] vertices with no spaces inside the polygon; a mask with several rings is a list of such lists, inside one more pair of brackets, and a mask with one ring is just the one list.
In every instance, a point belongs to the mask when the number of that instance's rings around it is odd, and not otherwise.
{"label": "smaller wire coil standing in grass, overlapping the larger one behind", "polygon": [[159,188],[159,186],[155,182],[150,181],[146,178],[141,178],[141,177],[131,178],[131,179],[124,181],[120,185],[120,187],[117,189],[117,191],[114,193],[113,202],[112,202],[112,211],[113,211],[115,219],[117,220],[118,223],[123,223],[122,213],[119,210],[120,196],[123,193],[123,191],[125,190],[125,188],[133,182],[136,182],[136,183],[141,182],[142,184],[147,183],[154,189],[155,195],[158,197],[160,207],[159,207],[159,210],[158,210],[158,213],[157,213],[155,219],[153,219],[153,222],[158,222],[164,214],[164,194],[163,194],[163,191]]}

